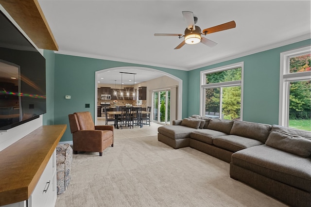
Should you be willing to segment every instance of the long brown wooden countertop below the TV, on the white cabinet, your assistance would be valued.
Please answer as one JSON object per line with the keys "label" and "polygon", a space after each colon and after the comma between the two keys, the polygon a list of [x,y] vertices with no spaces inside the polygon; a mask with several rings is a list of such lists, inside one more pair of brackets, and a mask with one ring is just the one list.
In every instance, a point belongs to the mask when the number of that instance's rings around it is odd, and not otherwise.
{"label": "long brown wooden countertop below the TV, on the white cabinet", "polygon": [[0,151],[0,206],[28,200],[66,127],[41,126]]}

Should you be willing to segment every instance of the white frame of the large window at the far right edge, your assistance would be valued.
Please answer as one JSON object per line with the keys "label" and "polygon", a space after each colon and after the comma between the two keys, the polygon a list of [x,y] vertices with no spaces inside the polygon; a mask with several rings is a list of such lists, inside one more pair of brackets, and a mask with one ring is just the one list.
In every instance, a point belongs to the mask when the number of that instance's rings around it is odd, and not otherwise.
{"label": "white frame of the large window at the far right edge", "polygon": [[280,88],[278,125],[289,126],[290,81],[310,80],[311,71],[290,73],[289,59],[295,56],[311,53],[311,46],[297,48],[280,53]]}

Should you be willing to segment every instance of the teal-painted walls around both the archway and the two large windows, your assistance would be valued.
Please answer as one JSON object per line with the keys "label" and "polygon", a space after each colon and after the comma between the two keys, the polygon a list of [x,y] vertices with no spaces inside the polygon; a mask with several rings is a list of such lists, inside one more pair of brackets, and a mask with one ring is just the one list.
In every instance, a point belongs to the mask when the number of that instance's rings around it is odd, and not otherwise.
{"label": "teal-painted walls around both the archway and the two large windows", "polygon": [[[200,71],[243,62],[243,120],[278,124],[280,53],[310,44],[311,39],[191,71],[54,54],[50,51],[45,53],[47,76],[54,72],[55,81],[54,91],[51,88],[49,89],[49,96],[52,96],[52,93],[54,96],[53,98],[47,97],[47,100],[53,100],[54,105],[48,106],[48,110],[53,111],[53,116],[49,111],[45,114],[46,119],[44,116],[44,122],[50,124],[49,120],[52,119],[53,123],[50,120],[52,124],[67,124],[67,130],[61,141],[71,141],[68,114],[76,111],[90,111],[93,118],[95,116],[95,72],[124,66],[153,68],[183,80],[182,117],[199,114]],[[47,89],[52,87],[51,80],[47,78],[49,82]],[[65,99],[66,95],[70,95],[71,99]],[[90,104],[90,108],[85,108],[86,103]]]}

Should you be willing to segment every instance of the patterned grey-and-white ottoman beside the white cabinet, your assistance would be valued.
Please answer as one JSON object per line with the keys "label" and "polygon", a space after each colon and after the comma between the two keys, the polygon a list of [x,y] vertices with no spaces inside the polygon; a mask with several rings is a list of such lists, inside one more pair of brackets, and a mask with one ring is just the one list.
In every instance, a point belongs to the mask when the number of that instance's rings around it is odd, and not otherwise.
{"label": "patterned grey-and-white ottoman beside the white cabinet", "polygon": [[56,147],[57,194],[67,190],[70,182],[72,148],[70,144],[58,144]]}

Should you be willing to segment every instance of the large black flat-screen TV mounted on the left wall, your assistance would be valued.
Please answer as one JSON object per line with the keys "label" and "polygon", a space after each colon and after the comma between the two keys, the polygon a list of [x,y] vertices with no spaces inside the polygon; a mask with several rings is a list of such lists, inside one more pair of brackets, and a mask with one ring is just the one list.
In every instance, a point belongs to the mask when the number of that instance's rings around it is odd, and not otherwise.
{"label": "large black flat-screen TV mounted on the left wall", "polygon": [[46,113],[45,58],[0,11],[0,130]]}

